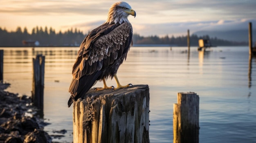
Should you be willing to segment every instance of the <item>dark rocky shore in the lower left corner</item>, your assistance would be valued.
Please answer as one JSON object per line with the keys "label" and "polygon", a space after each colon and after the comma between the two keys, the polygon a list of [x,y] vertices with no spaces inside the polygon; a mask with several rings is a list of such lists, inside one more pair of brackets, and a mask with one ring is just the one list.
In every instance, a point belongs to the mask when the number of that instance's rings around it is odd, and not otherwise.
{"label": "dark rocky shore in the lower left corner", "polygon": [[8,86],[0,83],[0,143],[52,143],[31,98],[4,91]]}

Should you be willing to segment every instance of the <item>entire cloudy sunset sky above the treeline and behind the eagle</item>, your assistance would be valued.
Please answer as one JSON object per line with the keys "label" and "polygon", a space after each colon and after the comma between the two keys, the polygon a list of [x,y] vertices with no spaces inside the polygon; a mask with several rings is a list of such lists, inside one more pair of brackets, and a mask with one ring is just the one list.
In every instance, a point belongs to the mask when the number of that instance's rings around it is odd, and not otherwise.
{"label": "entire cloudy sunset sky above the treeline and behind the eagle", "polygon": [[[106,21],[116,0],[0,0],[0,27],[52,27],[56,32],[87,33]],[[186,35],[196,31],[256,29],[256,0],[126,0],[136,11],[129,16],[133,32],[142,36]],[[255,26],[254,26],[255,25]]]}

